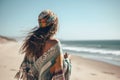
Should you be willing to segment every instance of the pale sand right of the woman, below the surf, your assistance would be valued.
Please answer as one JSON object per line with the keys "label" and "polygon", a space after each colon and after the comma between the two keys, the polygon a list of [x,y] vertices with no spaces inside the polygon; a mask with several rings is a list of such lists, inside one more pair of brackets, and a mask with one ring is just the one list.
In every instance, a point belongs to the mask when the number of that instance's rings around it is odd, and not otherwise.
{"label": "pale sand right of the woman, below the surf", "polygon": [[[119,80],[120,66],[112,65],[102,61],[96,61],[71,55],[72,76],[71,80]],[[79,74],[76,74],[76,72]],[[87,76],[87,77],[86,77]],[[76,78],[76,79],[75,79]]]}

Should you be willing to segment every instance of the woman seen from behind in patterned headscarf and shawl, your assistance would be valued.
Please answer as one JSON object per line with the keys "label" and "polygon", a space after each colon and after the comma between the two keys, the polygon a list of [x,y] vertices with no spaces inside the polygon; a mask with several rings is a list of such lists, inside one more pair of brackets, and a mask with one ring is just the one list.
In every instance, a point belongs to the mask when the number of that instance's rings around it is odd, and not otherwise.
{"label": "woman seen from behind in patterned headscarf and shawl", "polygon": [[58,18],[50,10],[38,16],[39,27],[29,33],[23,46],[24,60],[15,78],[18,80],[70,80],[71,63],[63,57],[60,41],[53,36]]}

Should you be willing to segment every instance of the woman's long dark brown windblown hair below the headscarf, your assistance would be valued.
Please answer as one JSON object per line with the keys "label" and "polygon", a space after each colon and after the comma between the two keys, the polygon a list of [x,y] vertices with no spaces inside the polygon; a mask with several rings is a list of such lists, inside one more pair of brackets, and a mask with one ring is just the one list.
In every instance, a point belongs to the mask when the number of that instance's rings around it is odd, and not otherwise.
{"label": "woman's long dark brown windblown hair below the headscarf", "polygon": [[26,56],[41,56],[43,54],[45,42],[56,33],[57,27],[58,18],[56,18],[56,23],[52,23],[45,28],[33,28],[26,37],[20,51],[25,53]]}

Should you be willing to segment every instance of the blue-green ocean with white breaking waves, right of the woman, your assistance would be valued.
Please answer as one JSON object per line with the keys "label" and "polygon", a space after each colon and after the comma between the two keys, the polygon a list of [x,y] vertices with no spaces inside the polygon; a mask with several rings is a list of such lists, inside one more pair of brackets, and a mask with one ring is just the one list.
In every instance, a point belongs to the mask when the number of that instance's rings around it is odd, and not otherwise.
{"label": "blue-green ocean with white breaking waves, right of the woman", "polygon": [[61,41],[63,52],[120,66],[120,40]]}

